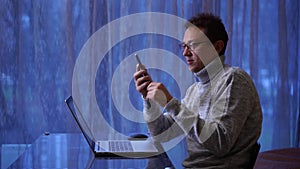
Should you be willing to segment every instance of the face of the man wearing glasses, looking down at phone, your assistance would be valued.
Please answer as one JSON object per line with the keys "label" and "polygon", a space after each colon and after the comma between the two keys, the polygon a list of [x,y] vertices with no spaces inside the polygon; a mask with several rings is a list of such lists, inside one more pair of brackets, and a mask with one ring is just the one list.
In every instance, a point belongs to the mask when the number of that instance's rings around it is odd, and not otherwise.
{"label": "face of the man wearing glasses, looking down at phone", "polygon": [[196,73],[203,69],[210,61],[218,56],[217,51],[203,33],[203,29],[189,27],[183,37],[185,56],[190,71]]}

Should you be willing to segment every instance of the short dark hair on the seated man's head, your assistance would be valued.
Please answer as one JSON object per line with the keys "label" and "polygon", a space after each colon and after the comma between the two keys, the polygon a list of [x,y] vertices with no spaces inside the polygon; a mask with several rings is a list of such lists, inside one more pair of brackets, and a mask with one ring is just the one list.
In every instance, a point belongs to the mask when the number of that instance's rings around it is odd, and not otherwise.
{"label": "short dark hair on the seated man's head", "polygon": [[228,41],[228,34],[219,16],[215,16],[212,13],[197,14],[189,19],[189,22],[185,25],[185,27],[189,28],[192,25],[200,29],[204,29],[204,34],[208,37],[211,43],[222,40],[224,42],[224,48],[219,55],[224,55]]}

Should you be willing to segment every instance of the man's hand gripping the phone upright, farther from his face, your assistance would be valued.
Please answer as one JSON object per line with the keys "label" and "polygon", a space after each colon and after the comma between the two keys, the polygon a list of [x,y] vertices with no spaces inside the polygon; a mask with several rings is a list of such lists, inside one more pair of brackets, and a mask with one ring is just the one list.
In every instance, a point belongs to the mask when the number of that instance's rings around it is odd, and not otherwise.
{"label": "man's hand gripping the phone upright, farther from his face", "polygon": [[133,74],[135,88],[140,92],[143,98],[147,96],[147,87],[152,82],[151,76],[148,74],[147,69],[140,69],[140,65],[136,65],[136,72]]}

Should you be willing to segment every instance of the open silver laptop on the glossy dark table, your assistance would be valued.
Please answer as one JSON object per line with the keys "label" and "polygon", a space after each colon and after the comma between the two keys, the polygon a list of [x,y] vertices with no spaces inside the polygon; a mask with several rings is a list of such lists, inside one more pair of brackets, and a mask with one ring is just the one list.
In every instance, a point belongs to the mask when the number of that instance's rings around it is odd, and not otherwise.
{"label": "open silver laptop on the glossy dark table", "polygon": [[[159,153],[158,149],[153,144],[153,141],[150,139],[143,140],[97,140],[92,139],[93,133],[89,130],[85,120],[82,118],[82,115],[76,106],[72,96],[68,97],[65,100],[72,116],[74,117],[76,124],[81,130],[84,138],[88,142],[90,149],[93,151],[96,157],[124,157],[124,158],[149,158],[156,156]],[[79,118],[83,119],[81,122]],[[85,131],[89,130],[89,131]],[[90,135],[89,135],[89,134]]]}

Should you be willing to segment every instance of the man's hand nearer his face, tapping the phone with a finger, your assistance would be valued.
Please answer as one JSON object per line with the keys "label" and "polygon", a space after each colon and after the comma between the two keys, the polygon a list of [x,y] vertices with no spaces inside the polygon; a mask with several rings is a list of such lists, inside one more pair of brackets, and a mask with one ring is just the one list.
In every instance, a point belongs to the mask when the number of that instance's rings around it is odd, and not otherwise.
{"label": "man's hand nearer his face, tapping the phone with a finger", "polygon": [[165,107],[173,97],[162,83],[151,82],[147,87],[146,98],[152,99],[160,106]]}

